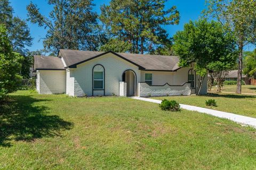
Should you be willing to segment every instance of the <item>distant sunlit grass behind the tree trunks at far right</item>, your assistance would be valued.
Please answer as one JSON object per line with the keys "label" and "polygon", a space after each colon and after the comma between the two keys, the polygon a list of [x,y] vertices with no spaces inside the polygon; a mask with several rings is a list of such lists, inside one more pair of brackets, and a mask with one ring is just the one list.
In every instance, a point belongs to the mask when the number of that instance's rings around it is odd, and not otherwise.
{"label": "distant sunlit grass behind the tree trunks at far right", "polygon": [[[212,87],[212,91],[217,91],[218,88]],[[224,92],[236,92],[236,85],[224,85]],[[256,95],[256,86],[255,85],[242,85],[242,93],[255,94]]]}

